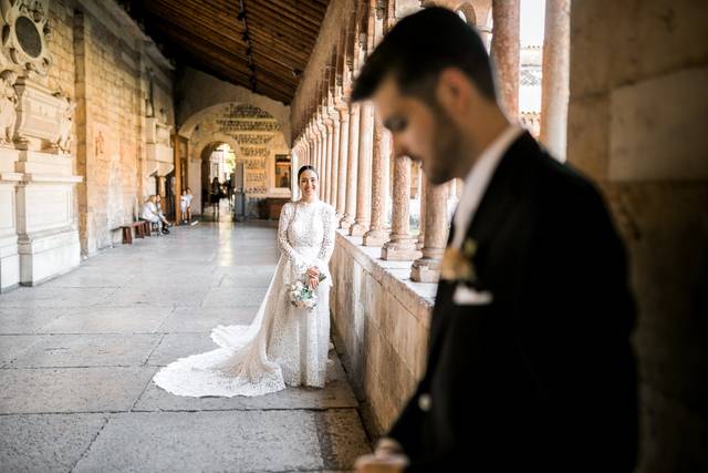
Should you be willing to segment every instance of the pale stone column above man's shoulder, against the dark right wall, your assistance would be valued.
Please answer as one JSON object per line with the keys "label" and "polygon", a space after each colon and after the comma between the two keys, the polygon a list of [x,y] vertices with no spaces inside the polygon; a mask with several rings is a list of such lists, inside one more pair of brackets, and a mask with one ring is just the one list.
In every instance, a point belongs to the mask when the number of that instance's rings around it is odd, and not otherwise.
{"label": "pale stone column above man's shoulder, against the dark right wall", "polygon": [[570,95],[570,11],[571,0],[545,0],[540,138],[559,161],[565,161]]}

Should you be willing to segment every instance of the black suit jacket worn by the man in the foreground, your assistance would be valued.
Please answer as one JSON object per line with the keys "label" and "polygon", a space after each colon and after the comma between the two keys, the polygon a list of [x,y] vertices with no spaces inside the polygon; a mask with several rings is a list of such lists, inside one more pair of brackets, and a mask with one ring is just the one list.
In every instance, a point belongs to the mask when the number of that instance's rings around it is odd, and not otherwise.
{"label": "black suit jacket worn by the man in the foreground", "polygon": [[635,306],[596,188],[524,133],[467,237],[493,301],[439,282],[426,373],[389,432],[408,471],[633,471]]}

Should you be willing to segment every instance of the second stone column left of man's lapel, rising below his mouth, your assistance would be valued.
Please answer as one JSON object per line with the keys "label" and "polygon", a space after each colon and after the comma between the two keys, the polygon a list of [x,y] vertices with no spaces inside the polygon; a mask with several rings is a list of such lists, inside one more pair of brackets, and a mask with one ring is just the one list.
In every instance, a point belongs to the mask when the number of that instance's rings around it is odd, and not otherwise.
{"label": "second stone column left of man's lapel, rising below his mouth", "polygon": [[410,160],[394,157],[394,198],[391,240],[381,250],[382,259],[409,261],[420,257],[416,240],[410,237]]}

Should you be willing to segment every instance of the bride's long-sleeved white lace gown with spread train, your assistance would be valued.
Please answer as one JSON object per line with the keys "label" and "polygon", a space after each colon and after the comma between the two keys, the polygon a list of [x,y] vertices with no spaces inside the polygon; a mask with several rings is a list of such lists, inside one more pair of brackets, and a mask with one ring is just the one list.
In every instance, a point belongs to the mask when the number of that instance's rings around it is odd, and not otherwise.
{"label": "bride's long-sleeved white lace gown with spread train", "polygon": [[[177,395],[261,395],[285,385],[324,387],[330,346],[327,263],[334,249],[334,208],[321,200],[289,202],[278,226],[281,256],[250,326],[219,326],[214,351],[180,358],[153,381]],[[295,308],[289,287],[308,268],[326,276],[314,308]]]}

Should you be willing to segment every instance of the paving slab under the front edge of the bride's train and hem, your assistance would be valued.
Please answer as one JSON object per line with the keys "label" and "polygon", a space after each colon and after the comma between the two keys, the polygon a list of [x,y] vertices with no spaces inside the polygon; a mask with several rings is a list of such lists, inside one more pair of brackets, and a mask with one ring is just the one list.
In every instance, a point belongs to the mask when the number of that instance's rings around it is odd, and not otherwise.
{"label": "paving slab under the front edge of the bride's train and hem", "polygon": [[[211,346],[205,351],[215,348],[215,346]],[[199,352],[192,351],[188,354]],[[330,357],[334,358],[334,352],[331,352]],[[243,395],[233,398],[187,398],[170,394],[150,382],[135,404],[135,411],[295,410],[358,407],[339,360],[330,367],[327,379],[330,381],[327,381],[324,389],[287,388],[272,394],[252,398]]]}

